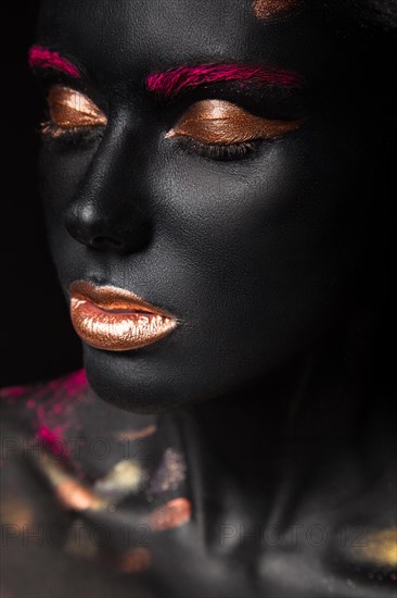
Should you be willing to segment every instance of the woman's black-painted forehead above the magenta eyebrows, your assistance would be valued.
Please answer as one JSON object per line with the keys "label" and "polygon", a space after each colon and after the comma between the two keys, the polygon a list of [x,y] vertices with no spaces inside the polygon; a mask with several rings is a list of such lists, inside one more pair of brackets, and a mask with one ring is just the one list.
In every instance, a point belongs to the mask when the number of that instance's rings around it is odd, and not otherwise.
{"label": "woman's black-painted forehead above the magenta eyebrows", "polygon": [[[292,0],[44,0],[37,41],[112,80],[222,61],[309,75],[328,50],[326,36],[309,11],[292,10],[290,18],[290,8]],[[266,11],[285,18],[268,24]]]}

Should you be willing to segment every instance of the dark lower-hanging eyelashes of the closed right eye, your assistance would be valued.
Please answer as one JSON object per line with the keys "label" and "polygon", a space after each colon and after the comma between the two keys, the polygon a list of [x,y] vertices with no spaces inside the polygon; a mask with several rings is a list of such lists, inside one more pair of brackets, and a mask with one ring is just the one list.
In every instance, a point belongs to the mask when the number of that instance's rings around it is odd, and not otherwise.
{"label": "dark lower-hanging eyelashes of the closed right eye", "polygon": [[242,141],[241,144],[219,145],[203,144],[188,136],[177,138],[177,144],[182,151],[187,153],[225,162],[228,160],[242,160],[247,158],[255,153],[259,147],[258,139]]}

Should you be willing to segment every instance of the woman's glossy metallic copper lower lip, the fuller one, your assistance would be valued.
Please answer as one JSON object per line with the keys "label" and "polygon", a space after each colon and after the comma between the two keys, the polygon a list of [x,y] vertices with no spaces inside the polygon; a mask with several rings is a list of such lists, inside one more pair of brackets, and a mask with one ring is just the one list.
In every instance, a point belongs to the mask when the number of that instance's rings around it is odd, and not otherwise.
{"label": "woman's glossy metallic copper lower lip, the fuller one", "polygon": [[176,321],[139,310],[105,310],[89,299],[72,298],[72,323],[78,336],[95,349],[128,351],[167,336]]}

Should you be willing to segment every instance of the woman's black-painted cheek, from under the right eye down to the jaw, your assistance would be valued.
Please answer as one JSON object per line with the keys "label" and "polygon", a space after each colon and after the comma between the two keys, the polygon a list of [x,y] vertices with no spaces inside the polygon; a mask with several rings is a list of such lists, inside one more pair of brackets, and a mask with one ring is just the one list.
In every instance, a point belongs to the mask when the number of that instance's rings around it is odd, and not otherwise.
{"label": "woman's black-painted cheek, from under the right eye down to the jaw", "polygon": [[254,160],[180,155],[157,171],[194,342],[212,335],[261,366],[324,328],[360,252],[362,166],[355,141],[308,132]]}

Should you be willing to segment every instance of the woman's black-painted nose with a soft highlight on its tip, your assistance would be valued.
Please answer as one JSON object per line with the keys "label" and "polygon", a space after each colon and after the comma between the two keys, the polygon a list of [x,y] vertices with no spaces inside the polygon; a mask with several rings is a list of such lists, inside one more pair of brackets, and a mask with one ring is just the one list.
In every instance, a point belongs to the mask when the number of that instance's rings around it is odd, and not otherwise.
{"label": "woman's black-painted nose with a soft highlight on its tip", "polygon": [[[119,141],[119,140],[118,140]],[[102,145],[103,144],[103,145]],[[69,235],[92,249],[129,253],[142,249],[151,238],[151,223],[144,213],[142,165],[126,164],[130,151],[123,142],[100,148],[64,212]]]}

